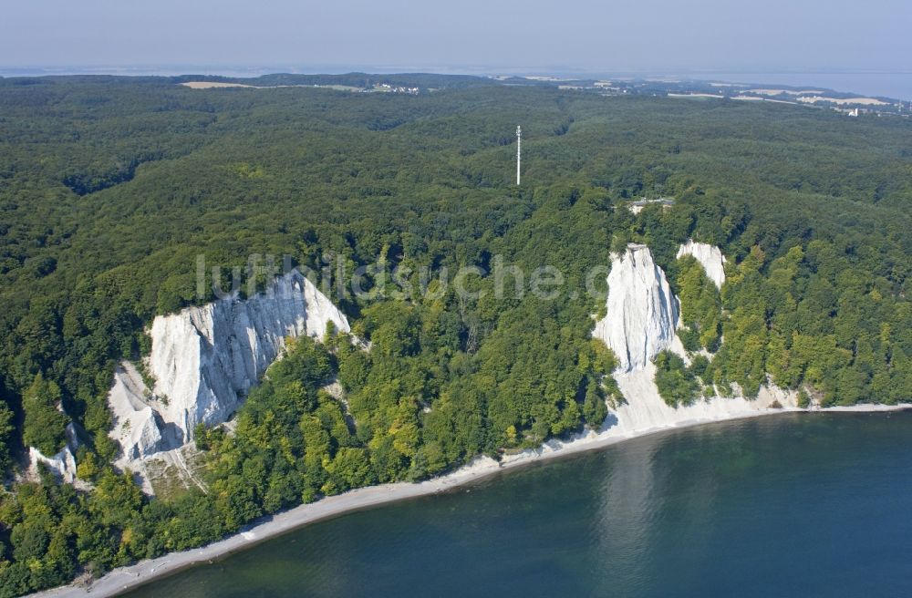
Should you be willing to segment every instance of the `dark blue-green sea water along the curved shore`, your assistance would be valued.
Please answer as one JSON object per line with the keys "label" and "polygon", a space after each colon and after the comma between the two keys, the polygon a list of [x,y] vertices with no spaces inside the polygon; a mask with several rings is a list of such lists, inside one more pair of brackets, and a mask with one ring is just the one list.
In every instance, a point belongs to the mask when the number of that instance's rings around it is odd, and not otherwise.
{"label": "dark blue-green sea water along the curved shore", "polygon": [[714,424],[351,513],[131,596],[912,595],[912,413]]}

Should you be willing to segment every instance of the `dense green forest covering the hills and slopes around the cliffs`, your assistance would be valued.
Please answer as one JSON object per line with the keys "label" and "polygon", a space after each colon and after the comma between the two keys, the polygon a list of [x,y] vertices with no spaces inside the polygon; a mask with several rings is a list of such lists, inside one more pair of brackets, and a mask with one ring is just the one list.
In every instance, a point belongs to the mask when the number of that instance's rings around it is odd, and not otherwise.
{"label": "dense green forest covering the hills and slopes around the cliffs", "polygon": [[[629,241],[648,243],[682,298],[687,348],[712,355],[659,356],[669,402],[732,383],[752,396],[768,375],[824,405],[912,397],[907,119],[472,77],[397,77],[436,89],[414,96],[181,80],[0,79],[2,595],[597,428],[624,398],[590,337],[604,302],[571,291]],[[676,202],[635,215],[625,203],[639,197]],[[720,291],[675,259],[690,237],[728,256]],[[113,367],[148,350],[155,314],[209,298],[198,255],[230,272],[252,253],[432,273],[490,273],[503,256],[557,267],[565,292],[498,297],[479,275],[477,300],[336,296],[371,350],[296,342],[233,434],[199,430],[209,491],[149,499],[109,465]],[[70,421],[92,489],[16,482],[26,446],[52,454]]]}

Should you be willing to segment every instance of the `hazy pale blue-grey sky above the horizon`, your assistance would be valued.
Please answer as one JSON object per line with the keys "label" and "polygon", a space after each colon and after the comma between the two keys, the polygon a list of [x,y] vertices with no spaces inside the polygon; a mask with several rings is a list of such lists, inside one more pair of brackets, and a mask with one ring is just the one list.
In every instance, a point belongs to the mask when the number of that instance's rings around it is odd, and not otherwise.
{"label": "hazy pale blue-grey sky above the horizon", "polygon": [[0,67],[912,70],[907,0],[11,0]]}

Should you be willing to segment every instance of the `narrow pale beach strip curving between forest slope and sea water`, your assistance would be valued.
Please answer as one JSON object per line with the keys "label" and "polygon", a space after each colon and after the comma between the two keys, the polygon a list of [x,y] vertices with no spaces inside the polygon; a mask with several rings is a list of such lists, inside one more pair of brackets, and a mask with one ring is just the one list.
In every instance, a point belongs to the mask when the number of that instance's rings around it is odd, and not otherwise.
{"label": "narrow pale beach strip curving between forest slope and sea water", "polygon": [[[718,401],[719,399],[715,399]],[[737,401],[739,399],[726,399]],[[742,399],[741,399],[742,400]],[[707,403],[709,404],[709,403]],[[627,407],[627,406],[624,406]],[[617,418],[623,415],[624,407],[620,407],[613,414]],[[740,406],[739,406],[740,407]],[[692,407],[681,407],[682,415],[689,415]],[[172,552],[164,556],[140,561],[126,567],[114,569],[91,583],[88,587],[79,587],[73,584],[60,586],[51,590],[29,594],[47,598],[78,598],[85,596],[116,596],[120,593],[135,589],[140,585],[152,583],[155,580],[167,577],[183,569],[197,564],[213,562],[224,558],[234,552],[240,552],[254,545],[271,540],[290,531],[295,531],[311,523],[339,517],[349,512],[367,510],[378,505],[409,500],[437,494],[447,490],[461,488],[475,481],[492,477],[493,475],[514,469],[523,465],[550,459],[564,458],[583,452],[604,449],[625,440],[641,438],[659,432],[692,428],[704,424],[738,419],[758,418],[784,413],[880,413],[895,412],[912,409],[912,404],[899,405],[857,405],[852,407],[800,408],[800,407],[755,407],[750,409],[735,408],[724,414],[712,414],[709,417],[703,414],[693,414],[693,418],[682,418],[648,428],[633,428],[615,423],[603,431],[589,432],[580,437],[566,441],[552,439],[537,449],[526,449],[513,455],[505,456],[501,462],[488,457],[477,457],[469,464],[449,474],[427,479],[418,483],[395,482],[368,486],[356,490],[349,490],[343,494],[326,497],[309,504],[302,504],[293,509],[276,513],[267,521],[260,521],[233,536],[221,541],[212,542],[201,548],[183,552]],[[701,417],[703,416],[703,417]],[[611,416],[609,416],[610,418]]]}

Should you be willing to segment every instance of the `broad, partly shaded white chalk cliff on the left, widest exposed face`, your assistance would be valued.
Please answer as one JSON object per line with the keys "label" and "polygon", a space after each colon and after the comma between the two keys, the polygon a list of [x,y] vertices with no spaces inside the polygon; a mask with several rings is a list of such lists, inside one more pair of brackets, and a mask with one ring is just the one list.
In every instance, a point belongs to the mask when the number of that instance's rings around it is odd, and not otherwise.
{"label": "broad, partly shaded white chalk cliff on the left, widest exposed face", "polygon": [[147,363],[155,387],[124,363],[109,394],[110,436],[123,449],[121,463],[181,446],[199,423],[225,421],[286,337],[322,337],[330,322],[349,332],[345,315],[296,271],[246,301],[223,299],[155,318]]}

